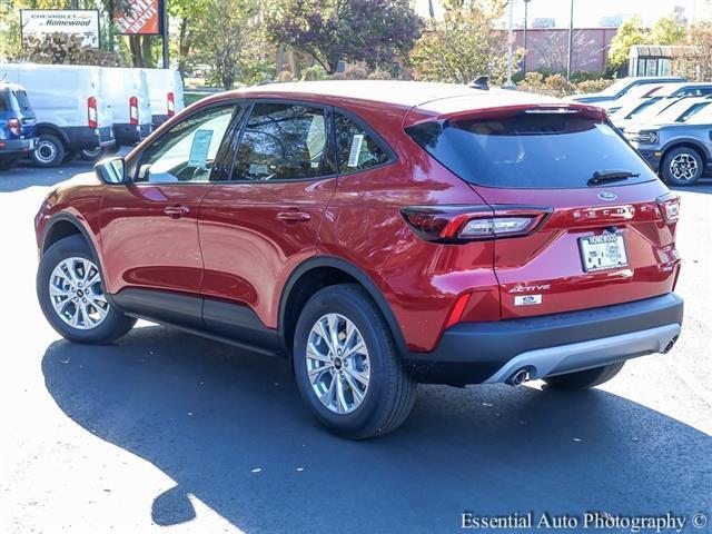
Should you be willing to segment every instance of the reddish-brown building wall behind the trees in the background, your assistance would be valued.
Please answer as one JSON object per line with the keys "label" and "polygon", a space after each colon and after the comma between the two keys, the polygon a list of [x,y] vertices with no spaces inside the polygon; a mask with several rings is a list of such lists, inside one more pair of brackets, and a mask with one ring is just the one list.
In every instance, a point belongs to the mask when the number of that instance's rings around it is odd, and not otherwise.
{"label": "reddish-brown building wall behind the trees in the background", "polygon": [[[597,71],[605,68],[611,39],[616,28],[574,29],[572,72]],[[535,28],[527,29],[526,70],[548,69],[554,72],[566,71],[568,50],[568,29]],[[524,30],[514,30],[514,48],[524,48]]]}

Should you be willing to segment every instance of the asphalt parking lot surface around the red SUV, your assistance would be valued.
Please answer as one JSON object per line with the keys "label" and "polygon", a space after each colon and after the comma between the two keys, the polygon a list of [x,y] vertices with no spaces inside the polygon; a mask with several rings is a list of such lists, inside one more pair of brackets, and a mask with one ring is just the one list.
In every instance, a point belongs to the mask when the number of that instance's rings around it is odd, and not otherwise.
{"label": "asphalt parking lot surface around the red SUV", "polygon": [[671,354],[581,394],[423,387],[400,431],[355,443],[313,421],[281,360],[147,323],[113,346],[58,337],[32,217],[89,168],[0,174],[0,532],[455,532],[466,511],[712,524],[709,181],[680,189]]}

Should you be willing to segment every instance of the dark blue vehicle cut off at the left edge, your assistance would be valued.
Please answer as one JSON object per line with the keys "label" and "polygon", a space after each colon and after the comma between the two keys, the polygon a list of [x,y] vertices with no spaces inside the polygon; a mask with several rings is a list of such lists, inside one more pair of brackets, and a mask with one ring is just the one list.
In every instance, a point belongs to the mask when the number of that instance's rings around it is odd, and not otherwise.
{"label": "dark blue vehicle cut off at the left edge", "polygon": [[0,170],[34,149],[34,122],[24,88],[0,82]]}

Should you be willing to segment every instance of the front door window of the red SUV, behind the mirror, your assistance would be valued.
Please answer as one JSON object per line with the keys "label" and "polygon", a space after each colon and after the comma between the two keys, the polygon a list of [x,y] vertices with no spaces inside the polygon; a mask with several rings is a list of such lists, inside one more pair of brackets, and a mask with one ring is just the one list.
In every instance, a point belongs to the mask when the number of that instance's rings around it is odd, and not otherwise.
{"label": "front door window of the red SUV, behind the mirror", "polygon": [[141,154],[136,182],[208,181],[235,106],[197,112],[175,125]]}

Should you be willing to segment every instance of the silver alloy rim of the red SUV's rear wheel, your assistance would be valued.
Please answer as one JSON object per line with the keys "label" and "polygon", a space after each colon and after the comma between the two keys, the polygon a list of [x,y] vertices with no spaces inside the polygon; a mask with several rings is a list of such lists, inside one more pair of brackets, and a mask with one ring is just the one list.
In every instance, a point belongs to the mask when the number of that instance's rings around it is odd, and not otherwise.
{"label": "silver alloy rim of the red SUV's rear wheel", "polygon": [[317,398],[336,414],[357,409],[368,393],[370,362],[356,325],[340,314],[322,316],[307,340],[307,373]]}

